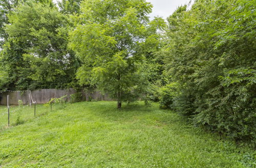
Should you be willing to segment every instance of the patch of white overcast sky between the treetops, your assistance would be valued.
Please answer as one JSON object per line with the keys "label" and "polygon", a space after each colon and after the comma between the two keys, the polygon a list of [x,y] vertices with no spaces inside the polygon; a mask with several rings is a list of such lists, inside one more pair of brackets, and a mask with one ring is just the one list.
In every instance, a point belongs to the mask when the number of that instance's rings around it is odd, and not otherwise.
{"label": "patch of white overcast sky between the treetops", "polygon": [[[150,2],[154,7],[152,13],[150,14],[151,18],[155,16],[160,16],[163,19],[170,16],[177,7],[189,3],[189,0],[146,0]],[[194,2],[194,1],[192,1]]]}

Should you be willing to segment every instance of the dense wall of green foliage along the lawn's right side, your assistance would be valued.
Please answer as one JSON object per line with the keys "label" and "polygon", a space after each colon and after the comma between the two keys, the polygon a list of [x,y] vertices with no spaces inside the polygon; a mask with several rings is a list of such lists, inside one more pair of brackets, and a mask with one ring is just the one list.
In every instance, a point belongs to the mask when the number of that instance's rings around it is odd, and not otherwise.
{"label": "dense wall of green foliage along the lawn's right side", "polygon": [[256,138],[255,1],[196,1],[168,17],[165,66],[178,113],[236,139]]}

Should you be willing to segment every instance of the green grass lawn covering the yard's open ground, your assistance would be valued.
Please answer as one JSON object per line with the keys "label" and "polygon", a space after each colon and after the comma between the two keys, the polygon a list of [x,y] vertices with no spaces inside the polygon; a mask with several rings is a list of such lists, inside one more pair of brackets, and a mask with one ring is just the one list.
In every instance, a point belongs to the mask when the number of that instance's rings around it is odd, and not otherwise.
{"label": "green grass lawn covering the yard's open ground", "polygon": [[0,167],[255,166],[252,149],[194,128],[158,104],[117,110],[116,102],[80,102],[52,112],[37,107],[36,118],[29,112],[23,124],[0,131]]}

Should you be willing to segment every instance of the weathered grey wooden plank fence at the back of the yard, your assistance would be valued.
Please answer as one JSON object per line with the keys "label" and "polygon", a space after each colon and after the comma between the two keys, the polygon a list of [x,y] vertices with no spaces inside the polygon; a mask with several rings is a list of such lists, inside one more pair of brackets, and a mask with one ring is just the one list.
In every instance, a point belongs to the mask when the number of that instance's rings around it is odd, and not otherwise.
{"label": "weathered grey wooden plank fence at the back of the yard", "polygon": [[[7,91],[0,93],[0,104],[6,105],[7,104],[7,95],[9,95],[9,104],[17,105],[18,100],[22,100],[24,104],[30,104],[32,101],[36,103],[47,103],[51,98],[60,98],[62,96],[67,95],[65,98],[66,101],[70,101],[70,95],[76,93],[74,89],[40,89],[34,91],[24,91],[24,92],[13,92]],[[30,94],[32,100],[30,98]],[[108,94],[102,95],[99,91],[93,90],[82,90],[81,91],[81,99],[82,101],[90,101],[90,100],[105,100],[111,101],[112,99],[109,98]]]}

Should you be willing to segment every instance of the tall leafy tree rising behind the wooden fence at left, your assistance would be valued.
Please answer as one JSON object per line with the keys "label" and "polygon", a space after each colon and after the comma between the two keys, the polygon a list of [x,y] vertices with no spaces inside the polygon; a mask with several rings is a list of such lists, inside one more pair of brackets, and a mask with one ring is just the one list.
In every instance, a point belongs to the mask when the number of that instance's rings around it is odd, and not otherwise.
{"label": "tall leafy tree rising behind the wooden fence at left", "polygon": [[67,49],[68,18],[52,1],[27,1],[8,16],[2,63],[13,90],[65,88],[75,80],[79,61]]}

